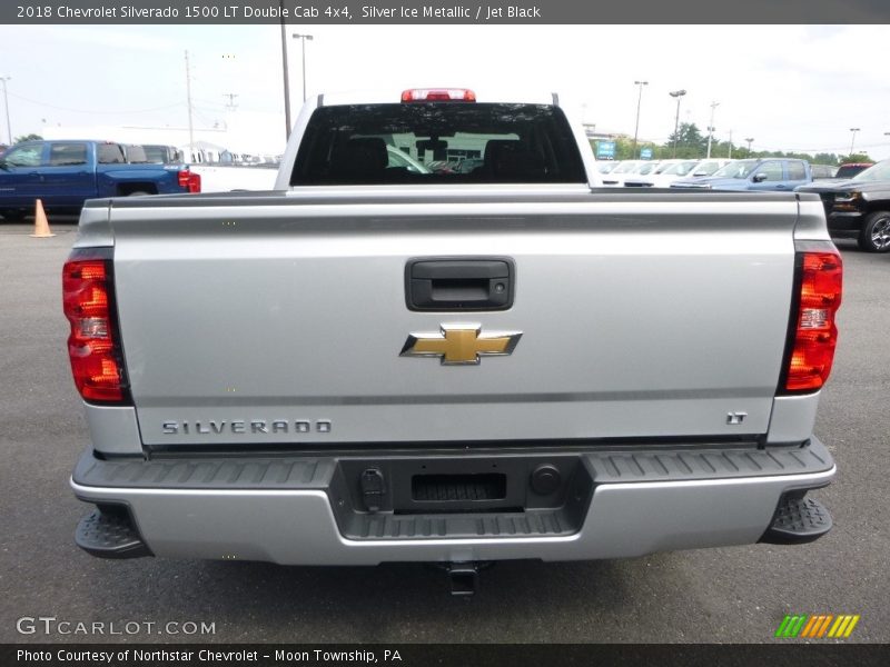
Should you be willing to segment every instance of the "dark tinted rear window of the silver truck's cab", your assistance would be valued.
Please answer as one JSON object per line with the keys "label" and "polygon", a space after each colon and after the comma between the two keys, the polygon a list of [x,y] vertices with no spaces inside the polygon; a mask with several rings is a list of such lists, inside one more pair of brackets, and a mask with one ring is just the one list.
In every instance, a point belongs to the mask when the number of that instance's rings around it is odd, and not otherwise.
{"label": "dark tinted rear window of the silver truck's cab", "polygon": [[586,180],[574,135],[557,107],[415,102],[317,109],[290,185]]}

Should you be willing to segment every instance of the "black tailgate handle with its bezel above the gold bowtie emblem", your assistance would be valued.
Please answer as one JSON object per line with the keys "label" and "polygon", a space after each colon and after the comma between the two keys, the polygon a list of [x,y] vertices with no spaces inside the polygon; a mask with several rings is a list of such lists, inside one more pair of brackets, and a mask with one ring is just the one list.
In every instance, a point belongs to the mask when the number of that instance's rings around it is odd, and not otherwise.
{"label": "black tailgate handle with its bezel above the gold bowtie emblem", "polygon": [[512,259],[415,259],[405,271],[409,310],[506,310],[513,306]]}

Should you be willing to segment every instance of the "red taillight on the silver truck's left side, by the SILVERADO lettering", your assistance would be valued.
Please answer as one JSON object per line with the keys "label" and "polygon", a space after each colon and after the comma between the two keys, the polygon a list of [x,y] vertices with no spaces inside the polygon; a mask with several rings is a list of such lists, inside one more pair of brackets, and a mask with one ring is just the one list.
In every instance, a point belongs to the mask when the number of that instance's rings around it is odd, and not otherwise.
{"label": "red taillight on the silver truck's left side, by the SILVERADO lettering", "polygon": [[68,355],[85,400],[125,398],[120,346],[110,308],[110,260],[70,259],[62,269],[62,305],[71,323]]}

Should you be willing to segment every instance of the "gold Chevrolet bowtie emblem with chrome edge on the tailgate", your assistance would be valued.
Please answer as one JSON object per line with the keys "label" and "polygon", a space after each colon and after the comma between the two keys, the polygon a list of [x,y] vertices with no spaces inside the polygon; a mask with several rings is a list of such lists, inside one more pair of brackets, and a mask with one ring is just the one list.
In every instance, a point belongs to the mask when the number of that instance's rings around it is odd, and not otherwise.
{"label": "gold Chevrolet bowtie emblem with chrome edge on the tailgate", "polygon": [[521,331],[482,334],[478,325],[443,325],[441,334],[412,334],[402,357],[439,357],[445,365],[476,365],[479,357],[512,355]]}

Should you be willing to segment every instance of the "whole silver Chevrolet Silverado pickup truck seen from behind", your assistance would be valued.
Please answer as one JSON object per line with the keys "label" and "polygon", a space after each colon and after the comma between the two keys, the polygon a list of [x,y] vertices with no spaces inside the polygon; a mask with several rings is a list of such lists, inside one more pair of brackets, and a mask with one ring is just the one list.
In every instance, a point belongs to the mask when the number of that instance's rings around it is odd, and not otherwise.
{"label": "whole silver Chevrolet Silverado pickup truck seen from behind", "polygon": [[591,175],[555,96],[405,91],[310,100],[279,191],[88,202],[63,276],[77,542],[437,561],[465,590],[478,561],[824,534],[819,199]]}

